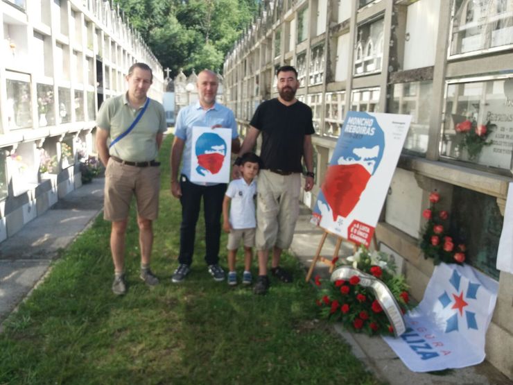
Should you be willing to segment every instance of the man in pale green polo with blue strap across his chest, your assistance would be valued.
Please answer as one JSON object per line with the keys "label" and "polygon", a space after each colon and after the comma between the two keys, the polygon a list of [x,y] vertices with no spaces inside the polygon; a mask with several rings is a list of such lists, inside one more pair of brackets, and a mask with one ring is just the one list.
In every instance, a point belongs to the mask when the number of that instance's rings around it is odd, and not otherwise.
{"label": "man in pale green polo with blue strap across his chest", "polygon": [[151,68],[144,63],[135,63],[128,69],[126,81],[128,92],[107,99],[96,119],[96,147],[106,167],[103,215],[105,220],[112,221],[112,291],[116,295],[126,293],[125,232],[132,195],[137,201],[140,277],[150,286],[159,283],[150,270],[150,255],[152,223],[159,211],[160,171],[155,159],[167,129],[162,104],[146,96],[153,81]]}

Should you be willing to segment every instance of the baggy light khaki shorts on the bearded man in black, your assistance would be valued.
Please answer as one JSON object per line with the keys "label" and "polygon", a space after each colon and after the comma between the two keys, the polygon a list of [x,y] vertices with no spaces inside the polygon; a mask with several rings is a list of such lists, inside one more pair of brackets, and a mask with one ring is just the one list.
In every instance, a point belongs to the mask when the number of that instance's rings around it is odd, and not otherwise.
{"label": "baggy light khaki shorts on the bearded man in black", "polygon": [[257,250],[288,248],[299,215],[301,174],[282,176],[269,170],[259,173],[257,194]]}

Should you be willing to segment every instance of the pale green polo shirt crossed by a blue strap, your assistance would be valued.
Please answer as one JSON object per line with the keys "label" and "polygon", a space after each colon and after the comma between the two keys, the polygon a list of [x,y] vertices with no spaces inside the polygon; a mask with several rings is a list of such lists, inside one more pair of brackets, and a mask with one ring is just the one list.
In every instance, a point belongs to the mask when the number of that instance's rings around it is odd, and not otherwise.
{"label": "pale green polo shirt crossed by a blue strap", "polygon": [[[126,94],[107,99],[96,117],[96,126],[110,132],[110,140],[125,132],[137,117],[139,109],[128,104]],[[167,130],[164,107],[150,99],[148,108],[134,128],[109,149],[110,155],[128,162],[145,162],[157,158],[157,134]]]}

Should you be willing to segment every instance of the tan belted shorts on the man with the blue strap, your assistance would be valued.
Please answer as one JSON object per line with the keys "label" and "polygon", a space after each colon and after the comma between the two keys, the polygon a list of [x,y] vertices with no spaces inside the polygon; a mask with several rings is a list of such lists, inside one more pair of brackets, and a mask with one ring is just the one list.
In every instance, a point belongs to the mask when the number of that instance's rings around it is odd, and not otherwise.
{"label": "tan belted shorts on the man with the blue strap", "polygon": [[135,195],[137,214],[153,221],[159,212],[160,169],[157,166],[136,167],[109,160],[105,169],[103,218],[124,221]]}

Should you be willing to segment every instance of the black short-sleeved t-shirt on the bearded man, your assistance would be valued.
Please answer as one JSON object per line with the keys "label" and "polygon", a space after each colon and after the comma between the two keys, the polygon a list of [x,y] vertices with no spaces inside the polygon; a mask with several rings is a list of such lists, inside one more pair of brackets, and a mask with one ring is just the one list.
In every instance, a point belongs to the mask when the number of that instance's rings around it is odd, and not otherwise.
{"label": "black short-sleeved t-shirt on the bearded man", "polygon": [[262,132],[263,169],[302,172],[304,135],[315,132],[308,105],[300,101],[293,105],[284,105],[278,99],[264,101],[250,124]]}

